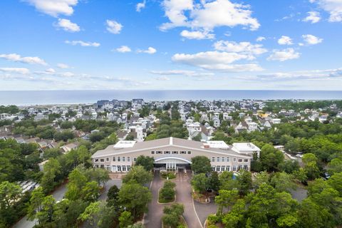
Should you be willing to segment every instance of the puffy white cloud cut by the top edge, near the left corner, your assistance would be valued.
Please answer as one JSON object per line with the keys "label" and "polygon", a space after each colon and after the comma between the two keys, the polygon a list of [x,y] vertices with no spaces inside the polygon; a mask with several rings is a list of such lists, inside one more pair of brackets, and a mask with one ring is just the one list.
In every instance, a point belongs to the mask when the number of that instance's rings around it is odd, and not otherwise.
{"label": "puffy white cloud cut by the top edge, near the left corner", "polygon": [[38,11],[51,16],[63,14],[70,16],[73,14],[73,6],[78,4],[78,0],[24,0],[36,7]]}

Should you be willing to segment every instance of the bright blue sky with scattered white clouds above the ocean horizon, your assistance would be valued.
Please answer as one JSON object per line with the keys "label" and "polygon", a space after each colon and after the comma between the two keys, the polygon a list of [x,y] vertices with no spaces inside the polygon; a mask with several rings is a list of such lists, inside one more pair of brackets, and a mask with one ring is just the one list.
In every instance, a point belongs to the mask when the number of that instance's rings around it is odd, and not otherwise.
{"label": "bright blue sky with scattered white clouds above the ocean horizon", "polygon": [[342,0],[3,0],[0,90],[341,90]]}

